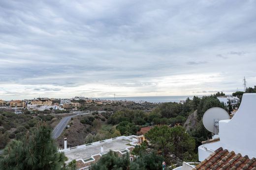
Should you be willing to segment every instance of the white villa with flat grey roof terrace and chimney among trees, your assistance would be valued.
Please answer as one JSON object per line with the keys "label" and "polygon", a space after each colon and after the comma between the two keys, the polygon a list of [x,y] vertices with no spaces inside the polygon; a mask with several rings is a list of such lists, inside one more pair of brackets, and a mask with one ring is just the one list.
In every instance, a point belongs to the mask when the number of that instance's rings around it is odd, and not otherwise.
{"label": "white villa with flat grey roof terrace and chimney among trees", "polygon": [[[65,162],[66,164],[72,160],[76,160],[78,170],[88,170],[92,164],[96,163],[102,155],[107,154],[110,150],[121,156],[127,152],[131,152],[134,146],[141,144],[144,140],[143,135],[119,136],[117,138],[67,148],[67,139],[65,138],[64,149],[59,151],[64,152],[68,158]],[[130,154],[129,159],[132,161],[133,158],[134,156]]]}

